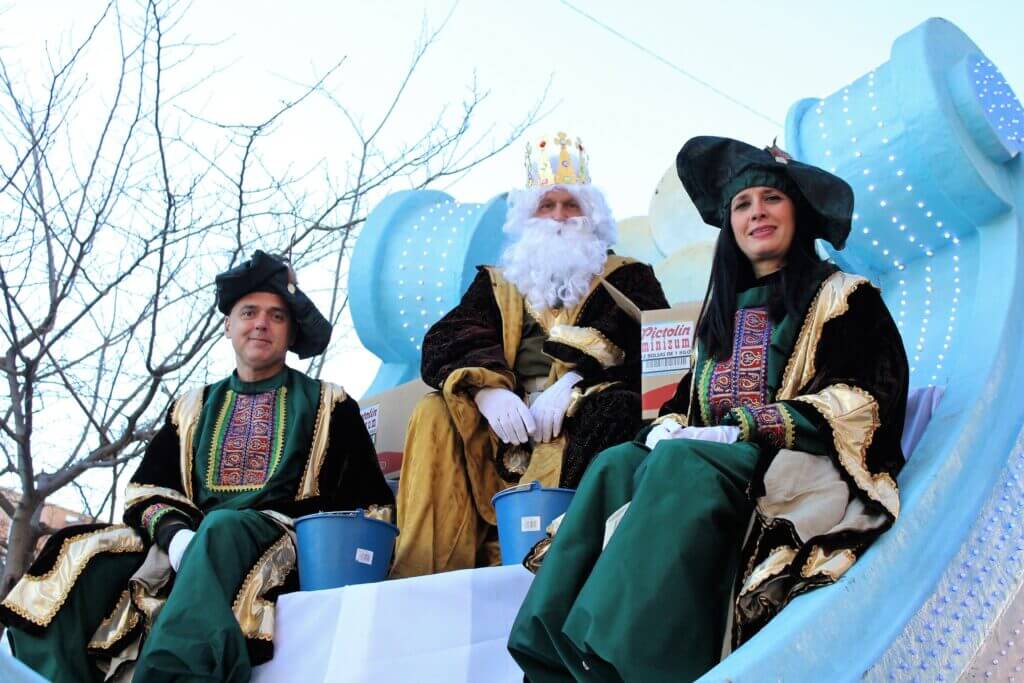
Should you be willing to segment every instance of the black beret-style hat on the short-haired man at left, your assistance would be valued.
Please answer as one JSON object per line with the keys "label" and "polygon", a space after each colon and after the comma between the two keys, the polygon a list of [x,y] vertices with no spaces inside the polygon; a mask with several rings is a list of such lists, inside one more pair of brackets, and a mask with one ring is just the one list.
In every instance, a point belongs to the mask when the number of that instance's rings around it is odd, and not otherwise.
{"label": "black beret-style hat on the short-haired man at left", "polygon": [[229,315],[239,299],[253,292],[276,294],[288,304],[295,324],[295,341],[289,349],[300,358],[323,353],[331,341],[331,324],[299,289],[288,263],[256,250],[248,261],[217,275],[217,308]]}

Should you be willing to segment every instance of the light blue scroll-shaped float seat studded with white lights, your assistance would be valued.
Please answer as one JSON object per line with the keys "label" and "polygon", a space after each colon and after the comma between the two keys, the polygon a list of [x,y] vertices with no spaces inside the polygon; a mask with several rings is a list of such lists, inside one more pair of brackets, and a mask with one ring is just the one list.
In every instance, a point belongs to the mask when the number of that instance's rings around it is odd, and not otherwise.
{"label": "light blue scroll-shaped float seat studded with white lights", "polygon": [[[853,186],[847,248],[822,247],[882,289],[911,388],[945,394],[894,527],[703,680],[955,680],[1024,575],[1024,110],[964,33],[930,19],[884,65],[796,102],[785,133],[795,158]],[[504,215],[504,197],[433,190],[370,214],[349,281],[359,339],[384,361],[370,393],[418,376],[424,332],[497,260]]]}

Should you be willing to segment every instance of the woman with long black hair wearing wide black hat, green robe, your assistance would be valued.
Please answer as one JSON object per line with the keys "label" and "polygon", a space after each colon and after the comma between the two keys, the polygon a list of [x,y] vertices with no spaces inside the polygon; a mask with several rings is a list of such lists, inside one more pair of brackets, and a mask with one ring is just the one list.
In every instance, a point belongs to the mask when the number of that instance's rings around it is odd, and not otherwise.
{"label": "woman with long black hair wearing wide black hat, green robe", "polygon": [[899,514],[906,354],[842,249],[842,179],[719,137],[680,179],[722,227],[691,373],[663,416],[588,469],[509,649],[529,681],[680,681],[841,577]]}

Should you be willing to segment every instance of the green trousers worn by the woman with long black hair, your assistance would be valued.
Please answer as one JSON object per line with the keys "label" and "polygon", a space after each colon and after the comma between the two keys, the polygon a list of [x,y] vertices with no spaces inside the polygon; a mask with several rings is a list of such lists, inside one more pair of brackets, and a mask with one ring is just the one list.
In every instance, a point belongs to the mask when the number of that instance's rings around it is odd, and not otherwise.
{"label": "green trousers worn by the woman with long black hair", "polygon": [[714,667],[757,459],[754,444],[689,439],[599,455],[512,627],[526,679],[677,683]]}

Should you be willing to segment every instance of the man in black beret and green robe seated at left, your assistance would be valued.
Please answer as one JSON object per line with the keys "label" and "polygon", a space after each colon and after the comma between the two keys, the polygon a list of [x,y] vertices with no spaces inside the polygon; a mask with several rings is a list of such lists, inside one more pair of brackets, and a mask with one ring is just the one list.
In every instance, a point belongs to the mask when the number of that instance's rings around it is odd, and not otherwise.
{"label": "man in black beret and green robe seated at left", "polygon": [[171,407],[124,524],[55,533],[0,603],[15,656],[53,681],[248,681],[297,586],[292,520],[390,517],[356,402],[285,364],[331,338],[291,267],[257,251],[216,283],[234,372]]}

